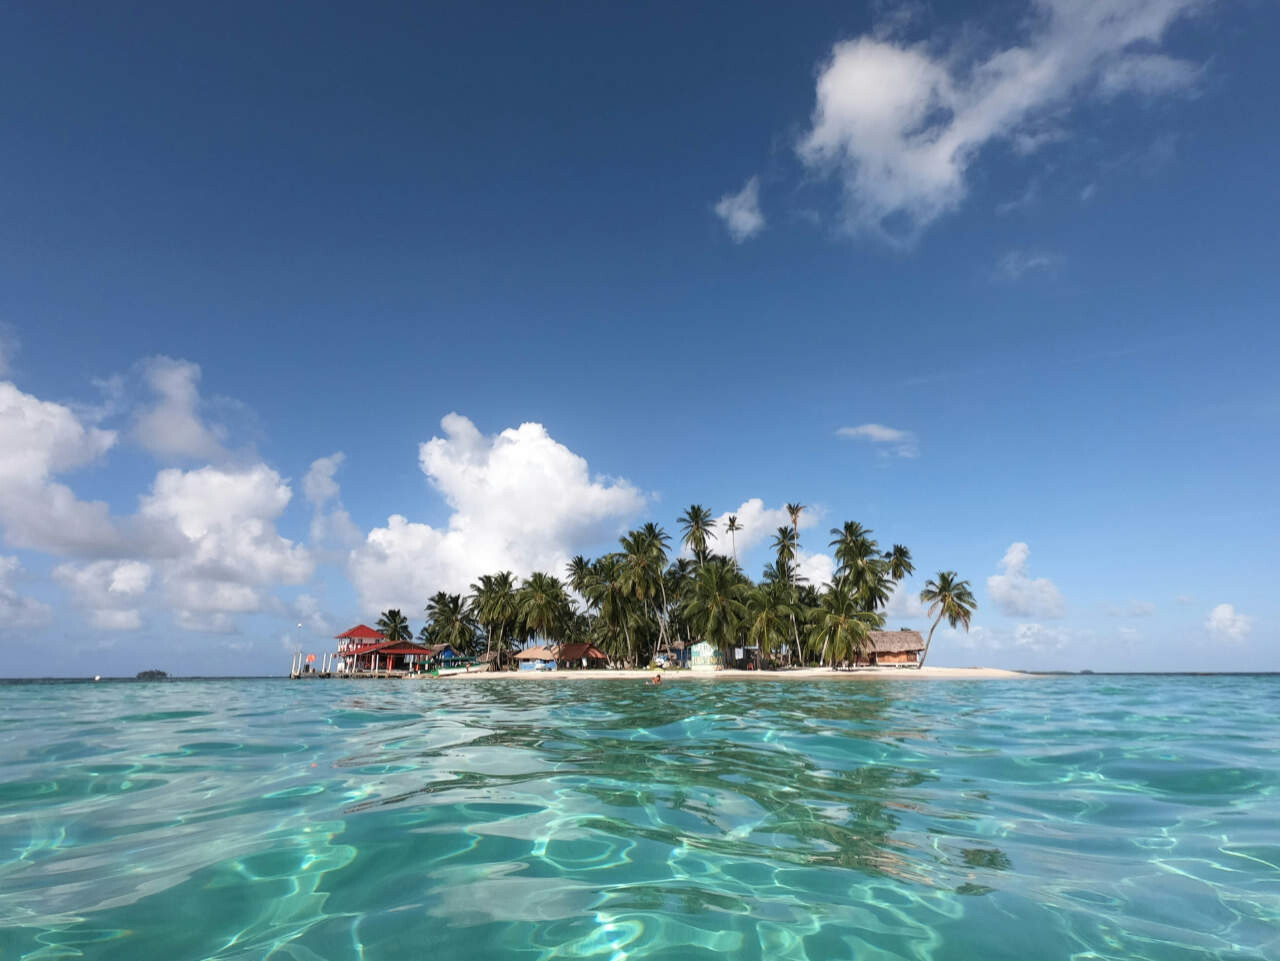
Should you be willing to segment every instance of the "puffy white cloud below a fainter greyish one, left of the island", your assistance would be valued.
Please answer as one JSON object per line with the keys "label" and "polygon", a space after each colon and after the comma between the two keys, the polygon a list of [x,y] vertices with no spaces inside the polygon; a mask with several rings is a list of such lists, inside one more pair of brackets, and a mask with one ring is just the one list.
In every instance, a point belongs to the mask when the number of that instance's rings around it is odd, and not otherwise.
{"label": "puffy white cloud below a fainter greyish one, left of the island", "polygon": [[230,630],[224,621],[197,614],[261,610],[264,587],[302,584],[311,576],[315,563],[307,549],[275,528],[291,498],[289,485],[261,463],[156,475],[141,514],[168,522],[182,535],[182,554],[161,568],[180,626],[212,623],[191,630]]}

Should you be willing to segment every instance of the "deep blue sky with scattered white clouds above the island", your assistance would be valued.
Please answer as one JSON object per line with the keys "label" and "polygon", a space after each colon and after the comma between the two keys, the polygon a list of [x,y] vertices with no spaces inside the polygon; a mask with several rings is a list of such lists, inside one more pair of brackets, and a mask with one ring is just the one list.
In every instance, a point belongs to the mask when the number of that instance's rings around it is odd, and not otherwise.
{"label": "deep blue sky with scattered white clouds above the island", "polygon": [[931,663],[1280,671],[1280,6],[0,12],[0,674],[279,673],[689,504]]}

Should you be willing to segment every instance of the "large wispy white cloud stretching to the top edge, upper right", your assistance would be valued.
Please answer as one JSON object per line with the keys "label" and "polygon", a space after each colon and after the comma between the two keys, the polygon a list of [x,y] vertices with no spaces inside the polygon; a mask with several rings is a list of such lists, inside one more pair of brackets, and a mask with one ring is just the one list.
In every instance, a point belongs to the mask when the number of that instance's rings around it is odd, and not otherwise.
{"label": "large wispy white cloud stretching to the top edge, upper right", "polygon": [[1032,0],[1023,41],[978,58],[968,36],[951,49],[884,35],[840,42],[818,77],[799,156],[841,182],[850,230],[910,242],[960,206],[989,143],[1036,150],[1046,122],[1074,101],[1190,83],[1193,65],[1153,47],[1204,5]]}

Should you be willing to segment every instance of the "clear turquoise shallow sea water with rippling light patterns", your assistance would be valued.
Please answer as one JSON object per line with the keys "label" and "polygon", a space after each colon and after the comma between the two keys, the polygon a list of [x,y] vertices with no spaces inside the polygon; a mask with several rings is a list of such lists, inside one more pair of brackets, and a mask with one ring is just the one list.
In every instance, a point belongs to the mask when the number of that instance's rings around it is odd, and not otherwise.
{"label": "clear turquoise shallow sea water with rippling light patterns", "polygon": [[0,958],[1277,958],[1280,677],[0,685]]}

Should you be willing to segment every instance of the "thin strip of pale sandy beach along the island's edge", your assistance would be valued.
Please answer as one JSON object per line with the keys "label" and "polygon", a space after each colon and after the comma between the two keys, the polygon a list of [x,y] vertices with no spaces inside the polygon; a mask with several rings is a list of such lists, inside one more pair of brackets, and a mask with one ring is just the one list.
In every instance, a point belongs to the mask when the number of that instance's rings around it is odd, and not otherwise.
{"label": "thin strip of pale sandy beach along the island's edge", "polygon": [[1005,668],[854,668],[835,671],[832,668],[796,668],[795,671],[640,671],[640,669],[573,669],[573,671],[483,671],[470,674],[445,674],[439,681],[649,681],[654,674],[662,674],[667,681],[1007,681],[1014,678],[1033,678],[1021,671]]}

